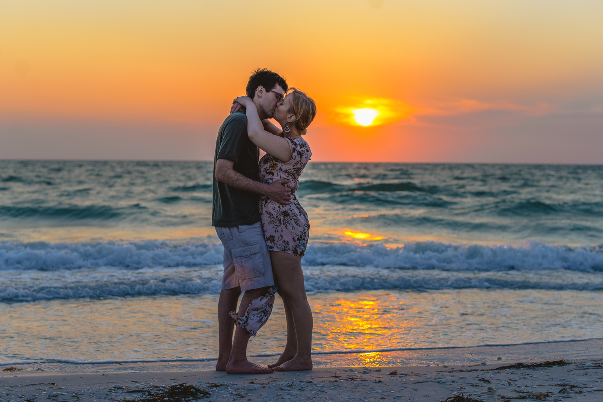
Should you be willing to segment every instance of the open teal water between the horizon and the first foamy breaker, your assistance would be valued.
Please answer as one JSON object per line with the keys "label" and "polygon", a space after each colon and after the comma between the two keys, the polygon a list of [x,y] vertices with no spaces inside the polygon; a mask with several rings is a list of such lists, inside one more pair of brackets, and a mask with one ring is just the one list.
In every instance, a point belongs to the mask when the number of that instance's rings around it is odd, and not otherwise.
{"label": "open teal water between the horizon and the first foamy breaker", "polygon": [[[0,161],[0,238],[212,235],[211,175],[210,162]],[[301,179],[314,242],[603,243],[602,166],[310,162]]]}

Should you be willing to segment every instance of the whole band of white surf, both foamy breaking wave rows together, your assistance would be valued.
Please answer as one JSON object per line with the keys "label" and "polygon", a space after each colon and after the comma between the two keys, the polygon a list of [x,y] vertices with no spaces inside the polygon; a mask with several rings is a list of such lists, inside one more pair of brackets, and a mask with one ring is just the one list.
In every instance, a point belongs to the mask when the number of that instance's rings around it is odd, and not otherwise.
{"label": "whole band of white surf, both foamy breaking wave rows together", "polygon": [[[216,294],[223,248],[215,243],[0,245],[0,300]],[[315,244],[307,250],[306,290],[603,289],[599,247],[454,246],[396,249]]]}

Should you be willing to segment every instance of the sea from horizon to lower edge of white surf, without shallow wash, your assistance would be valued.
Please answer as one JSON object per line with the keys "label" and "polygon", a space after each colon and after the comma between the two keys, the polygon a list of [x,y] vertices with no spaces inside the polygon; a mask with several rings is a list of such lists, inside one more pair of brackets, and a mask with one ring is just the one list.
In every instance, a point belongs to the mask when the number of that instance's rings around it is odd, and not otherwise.
{"label": "sea from horizon to lower edge of white surf, without shallow wash", "polygon": [[[0,300],[219,292],[210,162],[0,168]],[[603,288],[601,166],[311,162],[301,179],[308,291]]]}

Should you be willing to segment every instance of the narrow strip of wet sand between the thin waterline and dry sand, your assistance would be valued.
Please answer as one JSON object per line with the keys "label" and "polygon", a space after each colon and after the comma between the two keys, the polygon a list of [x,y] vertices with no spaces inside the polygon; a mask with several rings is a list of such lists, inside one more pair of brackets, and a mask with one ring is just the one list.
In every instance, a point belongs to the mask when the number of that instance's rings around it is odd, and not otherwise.
{"label": "narrow strip of wet sand between the thin waterline and dry sand", "polygon": [[[268,365],[279,354],[249,354],[249,360],[260,365]],[[490,344],[469,347],[420,347],[399,348],[398,350],[336,351],[333,353],[313,353],[315,368],[339,368],[361,366],[431,366],[431,365],[504,365],[516,362],[533,363],[560,359],[593,359],[603,357],[603,339],[579,339],[552,342],[522,342],[520,344]],[[121,372],[180,372],[213,370],[216,358],[138,360],[138,361],[54,361],[54,362],[3,362],[7,366],[23,368],[25,372],[43,370],[44,373],[100,373]],[[1,373],[1,372],[0,372]],[[1,378],[1,377],[0,377]]]}

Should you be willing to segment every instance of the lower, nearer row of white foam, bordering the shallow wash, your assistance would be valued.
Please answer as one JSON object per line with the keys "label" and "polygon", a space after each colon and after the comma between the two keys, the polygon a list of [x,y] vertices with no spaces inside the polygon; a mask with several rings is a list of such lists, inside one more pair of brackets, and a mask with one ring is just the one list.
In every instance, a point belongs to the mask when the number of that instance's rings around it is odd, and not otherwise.
{"label": "lower, nearer row of white foam, bordering the shallow wash", "polygon": [[[125,270],[5,271],[0,301],[144,295],[218,294],[221,267]],[[601,273],[570,270],[444,271],[371,267],[305,267],[306,291],[375,289],[603,289]],[[5,285],[4,285],[5,283]]]}

